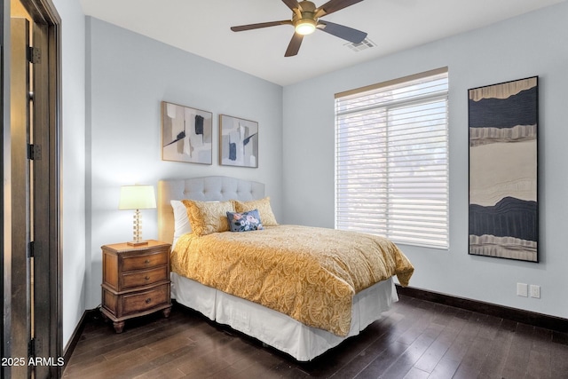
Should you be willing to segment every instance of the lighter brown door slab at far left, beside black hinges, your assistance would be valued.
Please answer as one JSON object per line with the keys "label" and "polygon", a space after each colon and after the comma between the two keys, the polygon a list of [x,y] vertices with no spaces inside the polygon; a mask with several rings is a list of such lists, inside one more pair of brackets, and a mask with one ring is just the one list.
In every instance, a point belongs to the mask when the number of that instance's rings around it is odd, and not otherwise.
{"label": "lighter brown door slab at far left, beside black hinges", "polygon": [[[10,326],[10,357],[19,360],[10,365],[12,377],[26,378],[28,366],[28,342],[31,340],[31,266],[28,259],[30,241],[30,164],[28,141],[30,138],[30,67],[28,63],[29,21],[25,18],[11,20],[11,70],[10,70],[10,118],[11,118],[11,187],[12,187],[12,306]],[[24,364],[22,364],[24,363]]]}

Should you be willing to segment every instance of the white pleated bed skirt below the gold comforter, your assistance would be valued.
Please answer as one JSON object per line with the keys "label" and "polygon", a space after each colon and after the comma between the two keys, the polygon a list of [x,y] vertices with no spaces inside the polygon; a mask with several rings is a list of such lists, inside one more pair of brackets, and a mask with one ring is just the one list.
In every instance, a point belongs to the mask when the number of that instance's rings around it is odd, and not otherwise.
{"label": "white pleated bed skirt below the gold comforter", "polygon": [[359,335],[398,301],[392,278],[359,292],[353,299],[349,335],[340,337],[319,328],[306,327],[283,313],[225,294],[175,272],[171,272],[171,281],[171,296],[177,303],[287,352],[300,361],[312,360],[345,338]]}

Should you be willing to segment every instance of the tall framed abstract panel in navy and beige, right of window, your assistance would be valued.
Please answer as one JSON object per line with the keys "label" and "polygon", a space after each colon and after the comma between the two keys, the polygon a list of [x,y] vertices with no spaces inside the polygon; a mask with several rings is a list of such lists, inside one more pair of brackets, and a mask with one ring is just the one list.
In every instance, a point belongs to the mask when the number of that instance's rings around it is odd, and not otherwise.
{"label": "tall framed abstract panel in navy and beige, right of window", "polygon": [[538,76],[468,94],[469,254],[538,262]]}

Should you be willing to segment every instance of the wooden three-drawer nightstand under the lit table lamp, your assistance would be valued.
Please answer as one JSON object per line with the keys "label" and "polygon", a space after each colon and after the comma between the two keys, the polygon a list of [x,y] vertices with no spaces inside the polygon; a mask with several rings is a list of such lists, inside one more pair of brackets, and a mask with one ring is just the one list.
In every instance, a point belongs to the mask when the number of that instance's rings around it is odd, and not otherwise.
{"label": "wooden three-drawer nightstand under the lit table lamp", "polygon": [[103,316],[122,333],[124,320],[162,311],[170,316],[170,243],[105,245],[103,254]]}

